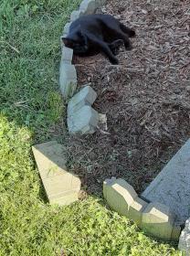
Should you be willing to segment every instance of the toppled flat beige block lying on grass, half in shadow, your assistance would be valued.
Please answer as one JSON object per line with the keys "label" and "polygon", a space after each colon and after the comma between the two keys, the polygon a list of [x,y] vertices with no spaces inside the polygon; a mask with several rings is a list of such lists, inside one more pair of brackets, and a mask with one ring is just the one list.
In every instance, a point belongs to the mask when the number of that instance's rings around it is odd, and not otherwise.
{"label": "toppled flat beige block lying on grass, half in shadow", "polygon": [[68,205],[78,200],[80,180],[67,171],[64,147],[53,141],[37,144],[32,150],[49,203]]}

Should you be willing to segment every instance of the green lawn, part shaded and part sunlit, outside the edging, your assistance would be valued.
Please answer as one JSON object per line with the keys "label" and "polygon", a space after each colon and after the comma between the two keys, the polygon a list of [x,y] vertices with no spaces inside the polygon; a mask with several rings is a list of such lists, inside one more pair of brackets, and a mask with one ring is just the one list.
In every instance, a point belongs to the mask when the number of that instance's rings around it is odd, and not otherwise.
{"label": "green lawn, part shaded and part sunlit, outside the edging", "polygon": [[101,198],[64,208],[47,204],[31,145],[52,138],[64,116],[59,36],[78,4],[0,2],[0,255],[180,255]]}

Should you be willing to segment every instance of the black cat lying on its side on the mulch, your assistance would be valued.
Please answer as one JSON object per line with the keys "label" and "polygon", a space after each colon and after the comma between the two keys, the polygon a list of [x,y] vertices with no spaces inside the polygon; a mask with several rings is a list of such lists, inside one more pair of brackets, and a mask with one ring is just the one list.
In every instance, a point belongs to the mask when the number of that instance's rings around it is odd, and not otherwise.
{"label": "black cat lying on its side on the mulch", "polygon": [[72,22],[69,35],[62,40],[66,47],[73,48],[75,55],[84,57],[102,52],[112,64],[118,64],[115,55],[123,43],[127,50],[132,49],[129,37],[134,36],[134,30],[113,16],[89,15]]}

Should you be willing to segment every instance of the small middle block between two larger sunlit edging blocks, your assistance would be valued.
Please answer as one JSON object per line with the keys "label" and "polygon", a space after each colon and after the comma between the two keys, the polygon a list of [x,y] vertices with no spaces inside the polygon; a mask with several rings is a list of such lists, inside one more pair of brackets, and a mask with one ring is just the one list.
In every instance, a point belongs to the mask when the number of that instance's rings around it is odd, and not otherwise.
{"label": "small middle block between two larger sunlit edging blocks", "polygon": [[136,197],[130,206],[128,218],[132,219],[138,227],[142,224],[142,212],[148,206],[148,203],[143,201],[140,197]]}

